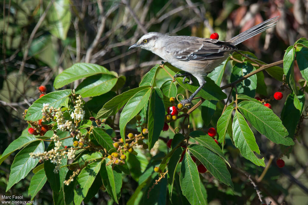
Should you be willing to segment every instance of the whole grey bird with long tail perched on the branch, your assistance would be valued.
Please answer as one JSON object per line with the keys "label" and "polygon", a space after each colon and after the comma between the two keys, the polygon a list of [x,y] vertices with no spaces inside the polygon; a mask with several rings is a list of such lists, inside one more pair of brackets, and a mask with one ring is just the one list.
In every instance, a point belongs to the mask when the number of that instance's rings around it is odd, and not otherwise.
{"label": "whole grey bird with long tail perched on the branch", "polygon": [[[205,85],[204,76],[219,66],[233,50],[235,45],[251,38],[276,25],[277,17],[259,23],[256,26],[238,34],[229,41],[219,41],[211,38],[195,36],[168,36],[158,32],[144,34],[129,49],[140,47],[149,50],[172,66],[184,70],[184,74],[176,74],[174,78],[193,75],[199,82],[198,89],[188,98],[181,101],[183,105],[191,103],[192,99]],[[184,82],[185,83],[185,82]],[[192,84],[190,78],[189,84]]]}

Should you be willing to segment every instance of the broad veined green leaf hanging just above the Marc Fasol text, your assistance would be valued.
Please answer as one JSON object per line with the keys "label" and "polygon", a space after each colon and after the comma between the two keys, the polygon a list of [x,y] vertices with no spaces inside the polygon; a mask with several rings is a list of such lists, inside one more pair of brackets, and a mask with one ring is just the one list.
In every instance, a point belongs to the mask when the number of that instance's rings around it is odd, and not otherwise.
{"label": "broad veined green leaf hanging just above the Marc Fasol text", "polygon": [[30,153],[41,153],[44,151],[44,143],[42,140],[34,141],[24,147],[15,156],[11,165],[10,177],[7,183],[6,191],[8,191],[14,184],[25,178],[26,175],[33,169],[39,159],[30,157]]}

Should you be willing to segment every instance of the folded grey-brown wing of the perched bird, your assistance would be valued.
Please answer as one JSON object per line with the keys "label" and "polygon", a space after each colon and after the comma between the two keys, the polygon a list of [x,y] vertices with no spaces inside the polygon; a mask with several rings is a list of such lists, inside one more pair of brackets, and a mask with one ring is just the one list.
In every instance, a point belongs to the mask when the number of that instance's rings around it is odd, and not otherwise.
{"label": "folded grey-brown wing of the perched bird", "polygon": [[197,38],[191,36],[170,36],[166,52],[171,53],[178,60],[196,60],[221,58],[224,52],[237,50],[229,42],[211,38]]}

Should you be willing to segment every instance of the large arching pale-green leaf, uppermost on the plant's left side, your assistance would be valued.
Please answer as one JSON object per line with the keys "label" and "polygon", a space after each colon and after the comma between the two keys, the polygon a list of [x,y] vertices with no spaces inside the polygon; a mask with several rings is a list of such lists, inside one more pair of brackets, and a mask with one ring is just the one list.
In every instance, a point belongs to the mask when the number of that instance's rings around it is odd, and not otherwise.
{"label": "large arching pale-green leaf, uppermost on the plant's left side", "polygon": [[[87,78],[96,74],[113,74],[103,66],[92,63],[75,63],[71,67],[57,75],[54,81],[55,89],[59,89],[75,80]],[[117,77],[117,76],[115,76]]]}

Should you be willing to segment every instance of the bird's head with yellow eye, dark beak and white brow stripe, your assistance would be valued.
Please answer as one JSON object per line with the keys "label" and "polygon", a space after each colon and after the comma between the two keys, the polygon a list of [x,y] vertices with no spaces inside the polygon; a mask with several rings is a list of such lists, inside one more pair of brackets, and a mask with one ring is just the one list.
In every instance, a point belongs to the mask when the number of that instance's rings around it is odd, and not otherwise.
{"label": "bird's head with yellow eye, dark beak and white brow stripe", "polygon": [[153,51],[155,49],[156,41],[163,35],[164,34],[158,32],[150,32],[144,34],[134,45],[130,46],[128,49],[140,47],[145,50]]}

